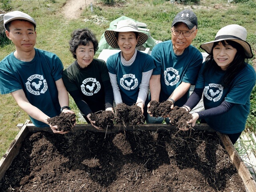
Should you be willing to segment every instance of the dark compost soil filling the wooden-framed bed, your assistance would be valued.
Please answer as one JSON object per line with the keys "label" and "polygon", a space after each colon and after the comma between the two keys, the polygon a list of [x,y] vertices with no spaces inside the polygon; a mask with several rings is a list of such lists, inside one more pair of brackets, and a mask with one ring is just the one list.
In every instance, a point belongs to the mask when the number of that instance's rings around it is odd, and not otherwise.
{"label": "dark compost soil filling the wooden-framed bed", "polygon": [[[106,137],[106,138],[105,138]],[[1,192],[245,192],[218,135],[190,129],[30,133]]]}

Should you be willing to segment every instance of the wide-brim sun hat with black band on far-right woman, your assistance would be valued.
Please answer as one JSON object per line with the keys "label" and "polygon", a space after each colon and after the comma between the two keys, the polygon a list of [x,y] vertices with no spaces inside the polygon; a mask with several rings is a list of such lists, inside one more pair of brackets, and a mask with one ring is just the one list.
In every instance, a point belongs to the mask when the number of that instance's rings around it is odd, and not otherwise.
{"label": "wide-brim sun hat with black band on far-right woman", "polygon": [[246,28],[232,24],[227,25],[221,28],[215,36],[214,41],[206,42],[200,45],[200,48],[205,50],[208,54],[212,51],[212,46],[214,42],[223,41],[223,40],[232,40],[239,43],[244,48],[244,53],[246,58],[252,58],[252,48],[248,42],[246,42],[247,31]]}

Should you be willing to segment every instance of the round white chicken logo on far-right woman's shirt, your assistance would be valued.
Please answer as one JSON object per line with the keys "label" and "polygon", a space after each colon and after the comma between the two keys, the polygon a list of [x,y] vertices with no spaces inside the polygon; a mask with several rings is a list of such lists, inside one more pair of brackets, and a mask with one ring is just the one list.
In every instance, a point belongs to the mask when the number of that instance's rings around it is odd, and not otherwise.
{"label": "round white chicken logo on far-right woman's shirt", "polygon": [[211,83],[204,87],[204,96],[213,102],[220,100],[223,94],[223,86],[219,84]]}

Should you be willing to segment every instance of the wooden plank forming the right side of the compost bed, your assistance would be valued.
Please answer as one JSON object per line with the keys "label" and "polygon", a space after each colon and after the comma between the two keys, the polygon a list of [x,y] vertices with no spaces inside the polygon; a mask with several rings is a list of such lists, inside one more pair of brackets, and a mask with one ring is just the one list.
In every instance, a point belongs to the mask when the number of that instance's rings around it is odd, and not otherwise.
{"label": "wooden plank forming the right side of the compost bed", "polygon": [[246,190],[248,192],[255,192],[256,182],[254,181],[254,179],[252,178],[252,175],[248,171],[248,168],[245,166],[244,162],[238,155],[238,152],[234,148],[234,145],[232,144],[232,142],[230,141],[230,139],[226,134],[222,134],[220,132],[217,132],[217,133],[220,136],[220,139],[222,140],[222,143],[230,156],[232,164],[236,167],[236,170],[239,176],[242,178],[244,182],[244,186],[246,187]]}

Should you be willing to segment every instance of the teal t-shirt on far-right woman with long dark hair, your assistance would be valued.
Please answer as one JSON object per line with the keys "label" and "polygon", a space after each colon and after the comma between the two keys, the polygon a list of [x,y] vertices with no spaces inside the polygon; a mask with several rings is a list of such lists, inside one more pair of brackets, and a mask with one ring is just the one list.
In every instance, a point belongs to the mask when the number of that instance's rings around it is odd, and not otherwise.
{"label": "teal t-shirt on far-right woman with long dark hair", "polygon": [[224,100],[235,105],[226,113],[205,118],[207,124],[216,131],[233,134],[242,132],[250,112],[250,94],[255,86],[255,70],[246,65],[232,80],[230,86],[224,88],[222,78],[225,71],[210,69],[202,75],[204,64],[200,69],[195,88],[204,88],[204,108],[210,109],[219,106]]}

